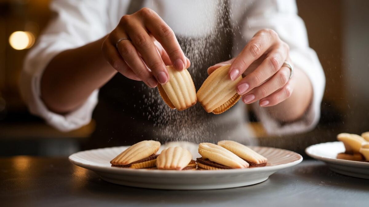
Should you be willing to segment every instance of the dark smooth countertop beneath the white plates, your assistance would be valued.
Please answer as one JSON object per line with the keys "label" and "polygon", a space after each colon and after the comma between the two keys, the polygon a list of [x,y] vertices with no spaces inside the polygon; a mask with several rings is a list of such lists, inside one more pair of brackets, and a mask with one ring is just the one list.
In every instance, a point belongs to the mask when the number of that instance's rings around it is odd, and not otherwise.
{"label": "dark smooth countertop beneath the white plates", "polygon": [[4,206],[367,206],[369,180],[303,161],[263,183],[223,190],[170,191],[120,186],[67,158],[0,159]]}

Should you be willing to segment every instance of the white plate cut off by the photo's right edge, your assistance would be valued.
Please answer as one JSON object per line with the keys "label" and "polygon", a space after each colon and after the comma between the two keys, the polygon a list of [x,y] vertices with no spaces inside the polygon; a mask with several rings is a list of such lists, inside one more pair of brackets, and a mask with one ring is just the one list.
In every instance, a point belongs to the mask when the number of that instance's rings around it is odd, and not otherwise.
{"label": "white plate cut off by the photo's right edge", "polygon": [[324,161],[334,172],[348,176],[369,179],[369,162],[337,159],[338,153],[345,152],[342,142],[327,142],[311,145],[305,149],[307,155]]}

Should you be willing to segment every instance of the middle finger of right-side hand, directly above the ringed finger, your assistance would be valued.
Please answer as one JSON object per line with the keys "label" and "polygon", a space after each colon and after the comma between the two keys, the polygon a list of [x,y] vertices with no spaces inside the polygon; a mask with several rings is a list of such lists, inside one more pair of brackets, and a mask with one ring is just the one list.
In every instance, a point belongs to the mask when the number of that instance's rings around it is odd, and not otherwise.
{"label": "middle finger of right-side hand, directly above the ringed finger", "polygon": [[248,93],[278,72],[287,58],[288,49],[284,46],[275,48],[277,49],[273,49],[252,73],[237,84],[238,94]]}

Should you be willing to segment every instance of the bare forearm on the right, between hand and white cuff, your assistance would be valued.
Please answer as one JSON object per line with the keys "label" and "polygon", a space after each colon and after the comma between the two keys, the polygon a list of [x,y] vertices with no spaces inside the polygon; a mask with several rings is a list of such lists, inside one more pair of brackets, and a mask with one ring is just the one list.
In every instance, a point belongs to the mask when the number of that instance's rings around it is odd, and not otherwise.
{"label": "bare forearm on the right, between hand and white cuff", "polygon": [[302,70],[295,69],[290,81],[293,86],[291,96],[275,106],[268,107],[270,115],[282,122],[292,122],[302,117],[313,98],[310,79]]}

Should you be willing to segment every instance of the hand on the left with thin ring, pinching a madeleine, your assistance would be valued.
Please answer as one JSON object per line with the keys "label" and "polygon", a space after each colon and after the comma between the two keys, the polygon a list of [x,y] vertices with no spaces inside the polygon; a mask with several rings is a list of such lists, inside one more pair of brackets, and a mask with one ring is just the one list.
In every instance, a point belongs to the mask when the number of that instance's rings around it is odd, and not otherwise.
{"label": "hand on the left with thin ring, pinching a madeleine", "polygon": [[[117,48],[117,41],[123,37],[131,41],[124,39]],[[101,49],[114,69],[129,79],[142,80],[149,87],[168,82],[165,65],[173,65],[177,70],[190,66],[172,29],[149,8],[124,15]]]}

